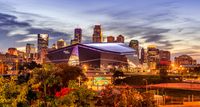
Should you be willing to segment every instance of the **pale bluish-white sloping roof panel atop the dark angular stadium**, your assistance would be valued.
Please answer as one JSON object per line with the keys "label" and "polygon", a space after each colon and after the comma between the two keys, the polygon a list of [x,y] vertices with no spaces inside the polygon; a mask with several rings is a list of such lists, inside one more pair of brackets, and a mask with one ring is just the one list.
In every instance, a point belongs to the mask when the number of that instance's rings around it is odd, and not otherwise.
{"label": "pale bluish-white sloping roof panel atop the dark angular stadium", "polygon": [[83,45],[104,50],[104,51],[110,51],[110,52],[118,52],[118,53],[135,52],[133,48],[130,48],[123,43],[90,43],[90,44],[83,44]]}

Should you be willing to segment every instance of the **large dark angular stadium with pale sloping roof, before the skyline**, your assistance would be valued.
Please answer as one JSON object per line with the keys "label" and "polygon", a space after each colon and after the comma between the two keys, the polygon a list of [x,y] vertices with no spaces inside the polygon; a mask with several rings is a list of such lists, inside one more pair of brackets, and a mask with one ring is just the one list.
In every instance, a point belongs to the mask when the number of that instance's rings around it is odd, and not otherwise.
{"label": "large dark angular stadium with pale sloping roof, before the skyline", "polygon": [[49,51],[47,59],[48,62],[86,65],[88,68],[101,70],[139,65],[136,51],[123,43],[75,44]]}

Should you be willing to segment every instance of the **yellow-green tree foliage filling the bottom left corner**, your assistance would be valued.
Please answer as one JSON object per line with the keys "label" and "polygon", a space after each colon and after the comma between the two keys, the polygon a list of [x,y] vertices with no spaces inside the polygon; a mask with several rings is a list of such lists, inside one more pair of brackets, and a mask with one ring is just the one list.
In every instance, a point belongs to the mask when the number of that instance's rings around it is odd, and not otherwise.
{"label": "yellow-green tree foliage filling the bottom left corner", "polygon": [[17,77],[0,77],[0,106],[27,106],[27,84],[18,85]]}

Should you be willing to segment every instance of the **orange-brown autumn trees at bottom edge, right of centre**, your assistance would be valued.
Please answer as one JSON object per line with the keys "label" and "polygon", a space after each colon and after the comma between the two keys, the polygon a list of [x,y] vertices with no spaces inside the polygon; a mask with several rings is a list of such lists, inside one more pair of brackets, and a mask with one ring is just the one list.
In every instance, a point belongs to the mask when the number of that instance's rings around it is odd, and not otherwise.
{"label": "orange-brown autumn trees at bottom edge, right of centre", "polygon": [[140,93],[133,88],[107,87],[101,92],[101,106],[109,107],[155,107],[153,94]]}

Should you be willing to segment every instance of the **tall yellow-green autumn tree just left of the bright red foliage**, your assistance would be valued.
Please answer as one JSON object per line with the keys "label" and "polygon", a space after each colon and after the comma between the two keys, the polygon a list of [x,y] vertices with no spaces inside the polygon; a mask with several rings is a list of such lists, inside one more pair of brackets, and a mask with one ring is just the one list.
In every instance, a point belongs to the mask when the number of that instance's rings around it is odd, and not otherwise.
{"label": "tall yellow-green autumn tree just left of the bright red foliage", "polygon": [[33,69],[29,85],[37,92],[39,105],[47,106],[51,103],[55,92],[62,87],[62,78],[56,75],[61,70],[54,64],[44,64],[41,68]]}

